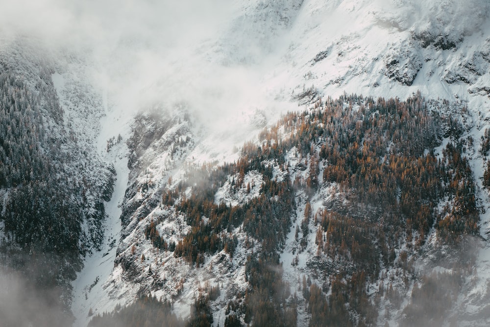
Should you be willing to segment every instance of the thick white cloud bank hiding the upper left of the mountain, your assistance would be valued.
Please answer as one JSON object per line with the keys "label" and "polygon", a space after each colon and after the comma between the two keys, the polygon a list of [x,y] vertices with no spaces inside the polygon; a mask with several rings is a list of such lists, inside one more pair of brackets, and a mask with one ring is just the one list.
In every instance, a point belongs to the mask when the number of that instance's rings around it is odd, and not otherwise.
{"label": "thick white cloud bank hiding the upper left of the mountain", "polygon": [[[0,37],[27,36],[51,53],[79,56],[89,83],[125,116],[184,102],[206,130],[233,133],[239,146],[250,128],[244,121],[257,110],[277,111],[261,81],[271,58],[280,57],[271,55],[274,49],[285,47],[281,31],[233,30],[242,27],[233,21],[242,6],[229,0],[0,0]],[[260,38],[270,39],[255,41]],[[265,50],[253,49],[264,44]],[[242,58],[237,52],[244,50]],[[287,109],[281,104],[279,111]]]}

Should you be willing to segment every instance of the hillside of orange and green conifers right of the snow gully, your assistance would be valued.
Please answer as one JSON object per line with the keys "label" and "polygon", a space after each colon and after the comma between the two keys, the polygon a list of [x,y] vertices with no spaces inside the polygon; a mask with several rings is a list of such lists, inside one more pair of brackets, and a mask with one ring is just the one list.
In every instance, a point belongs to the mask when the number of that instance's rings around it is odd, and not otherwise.
{"label": "hillside of orange and green conifers right of the snow gully", "polygon": [[[311,317],[309,326],[374,326],[388,323],[390,312],[400,312],[400,324],[441,323],[471,270],[467,237],[479,233],[465,156],[474,141],[464,137],[457,118],[464,117],[464,106],[453,117],[446,105],[420,95],[406,101],[344,96],[290,113],[260,134],[260,145],[246,143],[237,162],[191,169],[171,184],[151,219],[140,220],[147,221],[139,227],[147,241],[134,243],[116,263],[123,275],[143,278],[143,285],[144,276],[152,276],[141,290],[161,294],[155,286],[170,282],[157,280],[170,273],[172,260],[202,267],[216,282],[226,271],[217,276],[214,264],[245,256],[246,286],[231,296],[224,326],[296,326],[301,310]],[[242,200],[226,201],[234,194]],[[174,217],[188,226],[181,239]],[[292,262],[281,262],[286,252]],[[432,264],[447,271],[426,276],[414,262],[433,252]],[[294,270],[297,281],[285,281],[284,270],[305,257],[306,265]],[[187,278],[195,278],[179,275],[177,293],[163,294],[162,308],[179,299]],[[447,287],[430,302],[434,284]],[[203,287],[199,296],[215,313],[221,311],[221,304],[213,304],[216,285]],[[410,294],[411,302],[400,306]],[[137,303],[144,307],[147,301]],[[421,302],[432,309],[425,311]],[[136,319],[137,312],[118,308],[93,324],[113,316]],[[149,319],[137,317],[141,326]],[[161,317],[155,326],[167,326]],[[203,325],[188,324],[210,326],[208,317]]]}

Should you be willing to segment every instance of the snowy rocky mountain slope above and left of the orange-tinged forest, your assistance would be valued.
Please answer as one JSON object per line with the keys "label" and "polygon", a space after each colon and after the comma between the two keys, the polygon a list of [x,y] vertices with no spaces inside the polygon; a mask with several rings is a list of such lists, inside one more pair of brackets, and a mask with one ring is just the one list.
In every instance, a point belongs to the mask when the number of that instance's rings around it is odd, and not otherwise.
{"label": "snowy rocky mountain slope above and left of the orange-tinged forest", "polygon": [[[143,113],[133,123],[132,133],[128,133],[127,128],[122,133],[123,141],[134,140],[135,132],[147,135],[147,144],[133,145],[130,187],[124,199],[121,189],[116,188],[115,197],[120,196],[112,200],[123,204],[122,238],[117,239],[117,252],[108,252],[110,262],[116,258],[114,269],[108,275],[107,266],[99,273],[99,270],[88,269],[88,263],[77,281],[80,283],[75,287],[78,290],[90,289],[86,300],[79,291],[75,293],[81,299],[76,300],[74,305],[77,306],[73,307],[77,323],[85,324],[89,308],[98,313],[111,310],[118,303],[133,301],[140,290],[174,299],[175,310],[186,316],[193,295],[205,281],[221,284],[228,290],[245,287],[241,268],[246,251],[237,250],[229,262],[228,259],[222,261],[222,254],[218,253],[207,257],[202,268],[191,268],[174,258],[171,252],[155,252],[145,238],[145,228],[151,221],[158,220],[159,232],[168,241],[182,238],[188,227],[183,217],[159,205],[163,190],[174,188],[183,173],[196,164],[235,160],[237,148],[244,141],[255,140],[260,128],[274,123],[288,110],[302,110],[319,98],[344,93],[405,99],[420,91],[426,98],[459,101],[456,108],[467,107],[468,112],[463,115],[467,120],[465,137],[472,136],[474,148],[478,149],[490,114],[489,8],[489,2],[484,0],[465,3],[450,0],[249,1],[246,5],[237,1],[228,8],[231,15],[224,20],[227,23],[213,31],[214,34],[198,39],[195,47],[186,52],[192,55],[172,58],[173,67],[169,69],[161,65],[167,58],[150,60],[162,70],[152,72],[153,84],[143,89],[153,102],[164,103],[156,105],[157,111],[167,109],[163,111],[164,118]],[[174,67],[178,67],[178,72]],[[145,72],[132,74],[144,80]],[[206,80],[203,75],[212,75],[212,78]],[[190,86],[183,81],[188,81]],[[162,91],[165,97],[158,96],[157,91],[166,86],[178,91],[172,96],[173,102],[166,98],[167,91]],[[110,96],[117,101],[121,95],[113,92]],[[176,106],[175,101],[183,101],[183,104]],[[150,108],[155,106],[147,105],[143,109]],[[461,109],[456,109],[455,115],[461,115],[458,110]],[[109,125],[102,126],[102,130],[113,124],[110,119],[106,122]],[[159,132],[155,134],[155,130]],[[116,136],[115,132],[113,134]],[[115,146],[109,151],[109,157],[122,148],[122,145]],[[488,194],[480,179],[485,158],[478,151],[467,155],[479,185],[479,201],[488,207]],[[127,173],[122,168],[116,170],[118,180],[121,173]],[[169,180],[169,177],[172,178]],[[246,178],[256,185],[260,183],[260,178],[257,180],[253,174]],[[125,187],[124,183],[119,185]],[[217,193],[217,201],[245,201],[246,196],[230,194],[227,198],[226,185]],[[251,194],[254,192],[252,189]],[[315,196],[318,203],[330,194],[322,192]],[[316,209],[314,207],[314,211]],[[297,217],[301,215],[303,212],[299,211]],[[481,219],[481,234],[485,235],[489,228],[488,215],[482,214]],[[117,235],[118,228],[110,232]],[[239,230],[233,233],[241,244],[245,234]],[[285,266],[294,259],[288,252],[292,249],[293,238],[294,228],[281,257]],[[480,247],[473,279],[467,277],[472,283],[467,284],[458,300],[460,317],[467,319],[469,325],[485,325],[478,316],[485,305],[476,303],[487,294],[490,272],[485,258],[489,246],[481,241]],[[308,273],[307,262],[314,252],[303,252],[292,270],[285,270],[291,283]],[[101,254],[105,255],[105,250]],[[163,268],[156,270],[157,265]],[[160,274],[157,277],[156,272]],[[83,277],[85,274],[90,277]],[[90,287],[89,284],[94,283]],[[91,295],[93,293],[102,295]],[[222,295],[222,303],[214,307],[215,322],[220,322],[220,326],[224,322],[223,303],[227,300],[228,294]],[[299,317],[299,326],[306,325],[306,310]]]}

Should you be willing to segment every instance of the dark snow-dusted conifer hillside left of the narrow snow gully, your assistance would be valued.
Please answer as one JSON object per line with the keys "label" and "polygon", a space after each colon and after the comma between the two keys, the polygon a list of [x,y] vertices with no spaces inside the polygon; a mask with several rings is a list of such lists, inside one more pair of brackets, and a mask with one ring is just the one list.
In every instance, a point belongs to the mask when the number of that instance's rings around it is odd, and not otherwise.
{"label": "dark snow-dusted conifer hillside left of the narrow snow gully", "polygon": [[[0,269],[6,284],[19,275],[32,294],[52,302],[54,317],[37,326],[66,326],[71,281],[102,242],[103,203],[115,176],[78,146],[49,64],[22,62],[0,66]],[[11,313],[0,315],[6,326],[19,326]],[[23,316],[16,318],[36,321],[34,312]]]}

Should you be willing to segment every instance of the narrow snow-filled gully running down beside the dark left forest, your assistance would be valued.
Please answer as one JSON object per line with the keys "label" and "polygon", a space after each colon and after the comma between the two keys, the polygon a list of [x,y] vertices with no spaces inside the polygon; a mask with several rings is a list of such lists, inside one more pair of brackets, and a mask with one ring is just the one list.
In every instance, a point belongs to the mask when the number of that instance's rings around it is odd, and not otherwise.
{"label": "narrow snow-filled gully running down beside the dark left forest", "polygon": [[[121,237],[121,204],[127,188],[129,169],[127,167],[126,135],[129,135],[131,116],[124,116],[117,105],[109,105],[107,99],[90,86],[86,67],[79,63],[61,63],[60,70],[52,75],[53,84],[64,106],[65,116],[69,118],[73,131],[82,137],[88,151],[95,151],[94,156],[110,163],[116,172],[116,182],[111,200],[105,204],[106,220],[104,221],[104,240],[100,251],[89,253],[84,260],[82,271],[73,281],[72,311],[75,317],[74,326],[87,326],[94,314],[112,311],[117,304],[111,298],[113,285],[107,279],[113,273],[117,245]],[[86,93],[80,95],[79,88]],[[102,92],[101,92],[102,93]],[[124,135],[120,143],[106,151],[107,140]]]}

